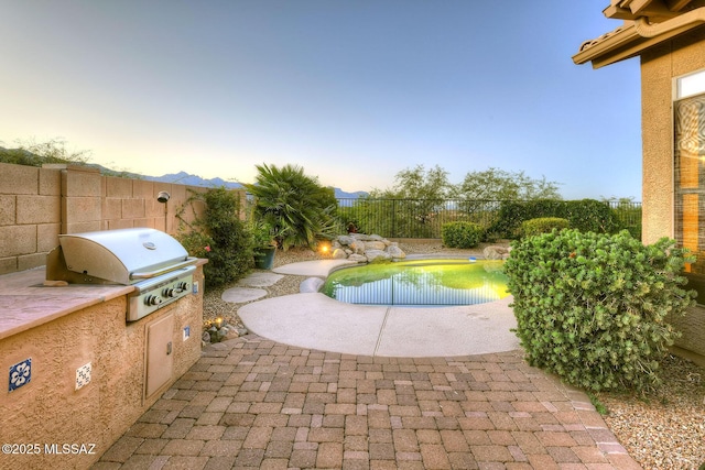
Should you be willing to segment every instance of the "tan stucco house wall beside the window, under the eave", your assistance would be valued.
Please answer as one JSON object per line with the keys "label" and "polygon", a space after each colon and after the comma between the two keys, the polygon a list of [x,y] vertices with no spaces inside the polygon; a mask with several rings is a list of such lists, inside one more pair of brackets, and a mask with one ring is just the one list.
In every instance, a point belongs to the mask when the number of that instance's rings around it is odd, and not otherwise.
{"label": "tan stucco house wall beside the window, under the eave", "polygon": [[[643,190],[642,240],[673,238],[673,79],[705,68],[705,28],[679,36],[641,56]],[[671,318],[683,334],[676,346],[705,358],[705,308]]]}

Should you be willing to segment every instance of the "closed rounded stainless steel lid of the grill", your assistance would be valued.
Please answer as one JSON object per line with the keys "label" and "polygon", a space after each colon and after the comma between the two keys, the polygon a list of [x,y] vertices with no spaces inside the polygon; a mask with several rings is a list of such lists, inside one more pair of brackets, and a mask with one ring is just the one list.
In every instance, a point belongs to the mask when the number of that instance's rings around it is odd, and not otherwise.
{"label": "closed rounded stainless steel lid of the grill", "polygon": [[58,241],[66,269],[86,280],[133,284],[197,261],[173,237],[154,229],[59,234]]}

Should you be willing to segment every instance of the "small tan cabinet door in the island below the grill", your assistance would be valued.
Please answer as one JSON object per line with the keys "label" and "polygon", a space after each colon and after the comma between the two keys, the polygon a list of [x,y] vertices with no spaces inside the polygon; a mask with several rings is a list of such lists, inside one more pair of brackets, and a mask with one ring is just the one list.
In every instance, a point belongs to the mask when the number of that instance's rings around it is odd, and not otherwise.
{"label": "small tan cabinet door in the island below the grill", "polygon": [[147,326],[147,373],[144,397],[149,398],[172,378],[174,367],[174,316]]}

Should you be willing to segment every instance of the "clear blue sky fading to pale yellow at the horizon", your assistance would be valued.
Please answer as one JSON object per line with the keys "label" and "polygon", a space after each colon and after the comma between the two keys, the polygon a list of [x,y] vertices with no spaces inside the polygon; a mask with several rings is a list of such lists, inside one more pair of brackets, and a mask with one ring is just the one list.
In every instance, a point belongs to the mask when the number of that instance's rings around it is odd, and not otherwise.
{"label": "clear blue sky fading to pale yellow at the horizon", "polygon": [[251,183],[383,189],[498,167],[641,199],[638,59],[571,57],[608,0],[0,0],[0,145]]}

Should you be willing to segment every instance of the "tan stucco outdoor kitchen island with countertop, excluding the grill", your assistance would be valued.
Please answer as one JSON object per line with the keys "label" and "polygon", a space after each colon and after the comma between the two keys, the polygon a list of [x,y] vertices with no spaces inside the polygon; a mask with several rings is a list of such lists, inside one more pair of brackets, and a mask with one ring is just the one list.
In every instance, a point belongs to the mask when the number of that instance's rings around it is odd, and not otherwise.
{"label": "tan stucco outdoor kitchen island with countertop, excluding the grill", "polygon": [[189,295],[137,321],[131,285],[0,276],[0,468],[89,467],[198,360],[204,263]]}

